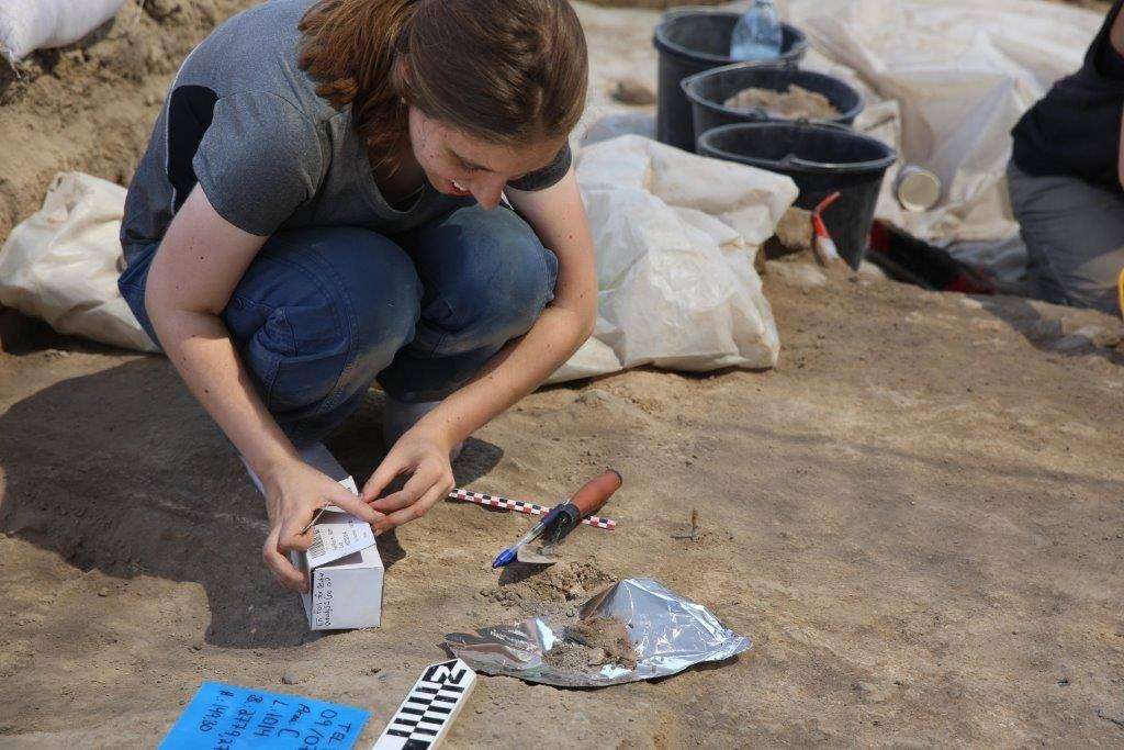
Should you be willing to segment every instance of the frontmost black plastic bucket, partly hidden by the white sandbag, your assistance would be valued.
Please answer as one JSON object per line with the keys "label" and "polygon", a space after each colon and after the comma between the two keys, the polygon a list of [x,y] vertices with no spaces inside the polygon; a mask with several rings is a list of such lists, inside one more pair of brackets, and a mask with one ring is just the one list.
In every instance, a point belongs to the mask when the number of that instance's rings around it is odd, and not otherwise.
{"label": "frontmost black plastic bucket, partly hidden by the white sandbag", "polygon": [[822,214],[840,255],[859,268],[870,244],[874,204],[886,170],[898,155],[881,141],[823,123],[741,123],[707,130],[699,153],[792,178],[796,205],[812,210],[840,191]]}

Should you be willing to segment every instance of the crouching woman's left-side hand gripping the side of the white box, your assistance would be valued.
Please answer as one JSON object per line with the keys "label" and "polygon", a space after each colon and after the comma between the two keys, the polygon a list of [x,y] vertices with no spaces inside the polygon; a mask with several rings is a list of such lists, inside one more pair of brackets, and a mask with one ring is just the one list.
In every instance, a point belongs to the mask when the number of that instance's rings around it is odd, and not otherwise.
{"label": "crouching woman's left-side hand gripping the side of the white box", "polygon": [[382,514],[373,510],[350,489],[303,461],[293,461],[265,478],[265,510],[270,533],[262,559],[278,582],[294,591],[308,591],[308,577],[289,561],[291,550],[308,550],[312,530],[300,532],[317,510],[335,505],[374,525]]}

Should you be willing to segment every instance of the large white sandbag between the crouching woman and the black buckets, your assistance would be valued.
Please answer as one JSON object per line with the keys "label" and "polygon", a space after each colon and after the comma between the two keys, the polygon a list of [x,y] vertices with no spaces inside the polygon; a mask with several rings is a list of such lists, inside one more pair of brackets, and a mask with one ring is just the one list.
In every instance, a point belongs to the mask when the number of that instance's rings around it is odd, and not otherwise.
{"label": "large white sandbag between the crouching woman and the black buckets", "polygon": [[636,135],[586,147],[577,164],[600,319],[551,381],[641,364],[773,367],[780,343],[753,259],[796,184]]}

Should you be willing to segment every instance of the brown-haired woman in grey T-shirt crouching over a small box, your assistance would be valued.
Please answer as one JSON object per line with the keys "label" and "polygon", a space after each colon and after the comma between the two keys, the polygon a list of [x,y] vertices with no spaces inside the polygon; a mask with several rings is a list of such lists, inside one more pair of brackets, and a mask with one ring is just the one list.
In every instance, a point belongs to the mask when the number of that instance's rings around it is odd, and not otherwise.
{"label": "brown-haired woman in grey T-shirt crouching over a small box", "polygon": [[[119,286],[265,495],[285,586],[319,507],[424,515],[461,442],[589,336],[586,84],[564,0],[273,0],[183,62]],[[389,452],[355,497],[306,459],[375,380]]]}

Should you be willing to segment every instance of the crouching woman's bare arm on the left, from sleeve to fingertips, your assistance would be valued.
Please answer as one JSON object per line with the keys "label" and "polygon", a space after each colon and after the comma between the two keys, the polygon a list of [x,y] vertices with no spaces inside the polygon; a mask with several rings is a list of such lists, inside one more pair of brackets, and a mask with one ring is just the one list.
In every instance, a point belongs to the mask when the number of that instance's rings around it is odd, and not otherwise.
{"label": "crouching woman's bare arm on the left, from sleeve to fingertips", "polygon": [[332,503],[368,522],[381,514],[300,460],[257,397],[219,317],[264,242],[219,216],[197,187],[153,259],[145,308],[188,389],[262,479],[270,517],[265,563],[281,584],[306,590],[306,577],[285,552],[308,549],[311,534],[299,532],[315,510]]}

